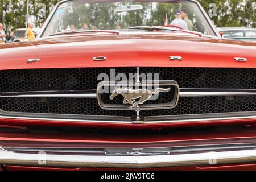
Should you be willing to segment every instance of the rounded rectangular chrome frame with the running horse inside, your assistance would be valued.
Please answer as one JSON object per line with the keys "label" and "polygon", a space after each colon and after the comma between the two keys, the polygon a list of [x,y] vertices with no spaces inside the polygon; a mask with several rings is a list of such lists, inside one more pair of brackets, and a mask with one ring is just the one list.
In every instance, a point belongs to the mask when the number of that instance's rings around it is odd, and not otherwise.
{"label": "rounded rectangular chrome frame with the running horse inside", "polygon": [[[179,85],[174,80],[159,80],[157,83],[148,81],[147,83],[134,83],[131,85],[133,86],[130,86],[126,81],[100,82],[97,86],[97,99],[101,109],[135,110],[137,112],[141,110],[172,109],[176,107],[179,101]],[[102,90],[106,88],[113,89],[110,89],[109,93],[102,93]],[[171,94],[172,100],[159,101],[158,94],[161,92]],[[119,99],[122,96],[123,100],[119,101],[118,98],[115,98],[117,96],[119,96]],[[155,98],[156,102],[152,104],[149,100]]]}

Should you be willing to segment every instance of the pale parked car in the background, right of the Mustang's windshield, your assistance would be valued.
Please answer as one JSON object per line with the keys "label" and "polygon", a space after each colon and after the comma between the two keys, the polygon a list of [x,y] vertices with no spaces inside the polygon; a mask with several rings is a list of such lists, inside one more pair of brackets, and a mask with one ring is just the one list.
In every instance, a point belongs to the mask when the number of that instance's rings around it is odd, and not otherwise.
{"label": "pale parked car in the background, right of the Mustang's windshield", "polygon": [[221,28],[223,38],[256,42],[256,28],[225,27]]}

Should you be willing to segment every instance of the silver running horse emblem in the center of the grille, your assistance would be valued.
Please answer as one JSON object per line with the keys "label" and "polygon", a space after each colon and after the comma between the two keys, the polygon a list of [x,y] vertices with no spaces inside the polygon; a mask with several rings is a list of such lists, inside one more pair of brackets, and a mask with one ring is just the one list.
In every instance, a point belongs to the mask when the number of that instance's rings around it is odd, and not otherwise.
{"label": "silver running horse emblem in the center of the grille", "polygon": [[114,92],[111,94],[110,99],[113,100],[114,97],[117,97],[121,94],[124,97],[123,104],[130,104],[130,109],[139,108],[139,105],[144,104],[155,94],[159,92],[169,92],[171,88],[161,89],[157,88],[152,92],[147,89],[131,89],[131,88],[115,88]]}

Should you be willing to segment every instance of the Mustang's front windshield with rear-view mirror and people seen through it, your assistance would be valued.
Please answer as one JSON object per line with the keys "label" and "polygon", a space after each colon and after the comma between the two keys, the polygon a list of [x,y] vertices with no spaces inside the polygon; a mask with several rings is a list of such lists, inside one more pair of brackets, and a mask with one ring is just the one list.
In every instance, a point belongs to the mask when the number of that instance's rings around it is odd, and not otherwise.
{"label": "Mustang's front windshield with rear-view mirror and people seen through it", "polygon": [[96,30],[155,31],[129,29],[137,26],[165,26],[216,36],[197,3],[185,0],[67,1],[57,7],[42,35]]}

